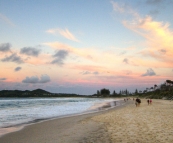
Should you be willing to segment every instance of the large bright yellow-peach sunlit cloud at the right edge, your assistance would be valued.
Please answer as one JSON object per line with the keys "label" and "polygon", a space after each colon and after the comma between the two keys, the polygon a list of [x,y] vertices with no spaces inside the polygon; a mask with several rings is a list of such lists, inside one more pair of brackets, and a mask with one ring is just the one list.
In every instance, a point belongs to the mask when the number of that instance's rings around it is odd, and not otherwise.
{"label": "large bright yellow-peach sunlit cloud at the right edge", "polygon": [[143,52],[165,63],[172,62],[173,32],[169,29],[169,23],[154,21],[152,17],[146,16],[136,20],[135,24],[124,22],[124,25],[146,39]]}

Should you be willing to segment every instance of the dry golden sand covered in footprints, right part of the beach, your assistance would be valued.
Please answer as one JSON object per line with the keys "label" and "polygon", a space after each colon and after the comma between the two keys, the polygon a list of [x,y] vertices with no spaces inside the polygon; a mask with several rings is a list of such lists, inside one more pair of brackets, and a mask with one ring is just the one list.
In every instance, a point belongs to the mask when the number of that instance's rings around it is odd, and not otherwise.
{"label": "dry golden sand covered in footprints, right part of the beach", "polygon": [[112,143],[173,143],[173,102],[153,100],[93,117],[104,123]]}

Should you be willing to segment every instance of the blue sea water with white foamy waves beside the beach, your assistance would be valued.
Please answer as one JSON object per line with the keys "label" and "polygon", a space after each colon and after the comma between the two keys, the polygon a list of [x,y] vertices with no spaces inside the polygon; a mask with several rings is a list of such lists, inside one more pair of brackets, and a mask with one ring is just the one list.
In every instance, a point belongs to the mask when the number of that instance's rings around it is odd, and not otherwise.
{"label": "blue sea water with white foamy waves beside the beach", "polygon": [[[0,135],[4,130],[37,120],[93,111],[115,99],[101,98],[0,98]],[[100,106],[99,106],[100,105]]]}

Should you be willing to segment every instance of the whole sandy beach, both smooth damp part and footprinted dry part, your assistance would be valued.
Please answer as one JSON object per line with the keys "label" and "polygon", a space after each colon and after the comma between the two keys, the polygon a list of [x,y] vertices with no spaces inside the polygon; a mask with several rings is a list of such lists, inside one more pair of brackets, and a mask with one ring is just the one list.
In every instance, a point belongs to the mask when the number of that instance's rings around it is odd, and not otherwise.
{"label": "whole sandy beach, both smooth damp part and footprinted dry part", "polygon": [[48,120],[0,138],[0,143],[172,143],[173,102],[145,99],[114,109]]}

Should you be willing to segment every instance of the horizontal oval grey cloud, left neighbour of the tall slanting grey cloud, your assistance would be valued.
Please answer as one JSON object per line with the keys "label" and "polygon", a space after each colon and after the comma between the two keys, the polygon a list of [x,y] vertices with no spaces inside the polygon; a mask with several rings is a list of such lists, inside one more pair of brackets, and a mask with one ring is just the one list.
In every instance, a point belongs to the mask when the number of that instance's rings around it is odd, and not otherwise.
{"label": "horizontal oval grey cloud, left neighbour of the tall slanting grey cloud", "polygon": [[37,57],[40,54],[40,50],[31,47],[24,47],[20,50],[20,54]]}

